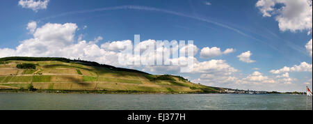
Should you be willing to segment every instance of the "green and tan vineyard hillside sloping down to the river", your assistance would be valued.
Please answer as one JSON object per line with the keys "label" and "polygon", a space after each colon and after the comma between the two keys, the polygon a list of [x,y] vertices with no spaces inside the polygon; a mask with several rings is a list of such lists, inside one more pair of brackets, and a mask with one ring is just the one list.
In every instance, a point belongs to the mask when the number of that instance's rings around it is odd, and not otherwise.
{"label": "green and tan vineyard hillside sloping down to the river", "polygon": [[218,93],[174,75],[150,75],[90,61],[64,58],[0,59],[1,90]]}

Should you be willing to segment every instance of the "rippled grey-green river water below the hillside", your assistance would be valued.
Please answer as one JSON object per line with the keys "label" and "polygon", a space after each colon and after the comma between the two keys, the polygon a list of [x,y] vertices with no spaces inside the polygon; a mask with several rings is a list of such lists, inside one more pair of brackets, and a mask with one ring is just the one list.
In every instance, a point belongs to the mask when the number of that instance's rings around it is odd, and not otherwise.
{"label": "rippled grey-green river water below the hillside", "polygon": [[0,93],[0,109],[312,110],[305,95]]}

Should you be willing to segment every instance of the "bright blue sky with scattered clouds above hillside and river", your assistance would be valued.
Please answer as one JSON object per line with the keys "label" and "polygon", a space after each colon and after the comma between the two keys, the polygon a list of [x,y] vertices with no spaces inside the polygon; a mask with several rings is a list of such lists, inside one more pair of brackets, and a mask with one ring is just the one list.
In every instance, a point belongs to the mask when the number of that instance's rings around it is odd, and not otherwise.
{"label": "bright blue sky with scattered clouds above hillside and river", "polygon": [[[68,54],[68,49],[54,54],[51,54],[51,51],[77,46],[79,42],[85,40],[86,46],[80,48],[88,49],[80,53],[81,58],[120,66],[118,63],[106,61],[106,59],[110,61],[113,53],[110,54],[107,48],[100,46],[106,42],[134,41],[134,35],[140,34],[141,41],[193,40],[198,48],[195,59],[199,65],[223,61],[216,64],[223,67],[223,70],[216,70],[210,66],[207,72],[179,73],[176,70],[157,71],[162,70],[162,67],[126,68],[145,70],[153,74],[182,75],[193,82],[209,86],[266,91],[304,91],[306,85],[312,88],[312,33],[308,33],[312,32],[312,4],[310,5],[307,0],[297,2],[271,0],[274,3],[271,6],[264,0],[21,1],[4,0],[0,4],[0,57],[73,58],[76,56]],[[289,11],[289,8],[293,11]],[[311,14],[308,14],[307,11],[310,10]],[[311,18],[309,22],[308,18]],[[33,32],[28,29],[31,22],[36,25]],[[68,28],[72,27],[74,30],[62,34],[45,32],[53,28],[56,29],[51,32],[62,32],[64,30],[61,28],[65,28],[65,24],[72,24]],[[65,34],[73,38],[69,41],[63,38],[51,40],[54,38],[53,35],[62,37]],[[96,40],[97,38],[99,39]],[[91,45],[90,41],[95,42]],[[38,47],[40,45],[54,45],[56,42],[60,42],[61,46],[45,47],[46,49],[40,52],[45,54],[33,52],[34,49],[41,51],[42,49]],[[22,49],[26,45],[31,47],[31,50]],[[305,47],[306,45],[311,47]],[[93,50],[97,52],[94,47],[105,52],[100,55],[90,54]],[[220,48],[221,52],[227,48],[235,50],[229,54],[201,57],[202,54],[216,52],[201,52],[204,47]],[[245,59],[253,62],[240,61],[239,55],[248,51],[250,55]],[[284,66],[289,70],[280,70]],[[292,67],[295,68],[291,69]],[[230,68],[236,71],[231,71]],[[280,71],[271,72],[271,70]],[[220,75],[227,72],[232,74]],[[223,78],[212,79],[208,75]]]}

